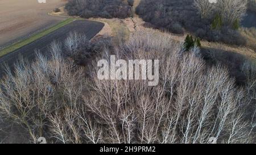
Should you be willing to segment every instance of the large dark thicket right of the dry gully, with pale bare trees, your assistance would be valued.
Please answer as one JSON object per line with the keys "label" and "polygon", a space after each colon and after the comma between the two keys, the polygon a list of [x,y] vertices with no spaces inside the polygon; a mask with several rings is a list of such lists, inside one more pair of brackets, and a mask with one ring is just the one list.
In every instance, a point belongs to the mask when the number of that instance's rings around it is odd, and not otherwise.
{"label": "large dark thicket right of the dry gully, with pale bare trees", "polygon": [[168,30],[172,33],[189,31],[208,41],[245,45],[246,40],[237,31],[245,13],[242,0],[142,0],[137,7],[147,26]]}

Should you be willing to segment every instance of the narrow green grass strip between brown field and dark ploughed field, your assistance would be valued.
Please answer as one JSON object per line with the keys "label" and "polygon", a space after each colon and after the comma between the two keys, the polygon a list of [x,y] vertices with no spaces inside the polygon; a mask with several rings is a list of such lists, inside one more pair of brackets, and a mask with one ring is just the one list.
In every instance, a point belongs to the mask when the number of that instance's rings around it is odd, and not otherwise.
{"label": "narrow green grass strip between brown field and dark ploughed field", "polygon": [[14,43],[14,44],[11,44],[11,45],[7,46],[6,48],[3,48],[0,51],[0,57],[4,56],[4,55],[7,55],[10,52],[15,51],[16,49],[18,49],[20,47],[23,47],[24,45],[32,43],[33,41],[38,40],[43,36],[46,36],[47,34],[49,34],[49,33],[65,26],[65,25],[67,25],[68,23],[73,22],[73,20],[74,20],[73,18],[68,18],[66,20],[63,20],[63,21],[57,23],[55,26],[52,26],[52,27],[48,28],[47,30],[36,33],[35,35],[32,35],[31,37],[28,37],[27,39],[20,40],[20,41]]}

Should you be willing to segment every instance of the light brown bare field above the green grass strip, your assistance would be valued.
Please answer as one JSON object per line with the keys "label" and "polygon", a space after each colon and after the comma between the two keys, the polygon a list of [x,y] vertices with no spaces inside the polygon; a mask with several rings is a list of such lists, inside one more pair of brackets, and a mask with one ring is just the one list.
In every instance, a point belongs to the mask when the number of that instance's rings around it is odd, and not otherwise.
{"label": "light brown bare field above the green grass strip", "polygon": [[0,0],[0,49],[32,33],[52,26],[65,18],[49,16],[48,12],[61,7],[66,0]]}

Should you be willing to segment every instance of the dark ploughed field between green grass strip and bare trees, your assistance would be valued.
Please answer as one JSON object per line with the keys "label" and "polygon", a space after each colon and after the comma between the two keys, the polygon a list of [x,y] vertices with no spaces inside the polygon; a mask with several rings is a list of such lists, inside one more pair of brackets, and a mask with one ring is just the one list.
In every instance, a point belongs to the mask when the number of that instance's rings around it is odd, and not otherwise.
{"label": "dark ploughed field between green grass strip and bare trees", "polygon": [[0,77],[5,68],[5,64],[13,66],[13,64],[19,60],[20,56],[27,60],[31,60],[35,57],[35,49],[46,55],[48,47],[52,41],[63,41],[66,39],[69,32],[72,31],[83,33],[88,39],[92,39],[92,37],[101,31],[102,27],[104,27],[103,23],[88,20],[76,20],[75,22],[61,27],[48,35],[9,53],[8,55],[0,57]]}

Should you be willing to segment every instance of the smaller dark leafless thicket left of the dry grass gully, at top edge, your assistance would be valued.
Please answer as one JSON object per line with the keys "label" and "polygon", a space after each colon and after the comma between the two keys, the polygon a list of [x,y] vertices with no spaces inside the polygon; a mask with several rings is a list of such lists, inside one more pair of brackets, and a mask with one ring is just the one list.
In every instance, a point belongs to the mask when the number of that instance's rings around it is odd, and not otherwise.
{"label": "smaller dark leafless thicket left of the dry grass gully, at top edge", "polygon": [[131,4],[123,0],[69,0],[65,9],[69,15],[83,18],[127,18],[132,14]]}

